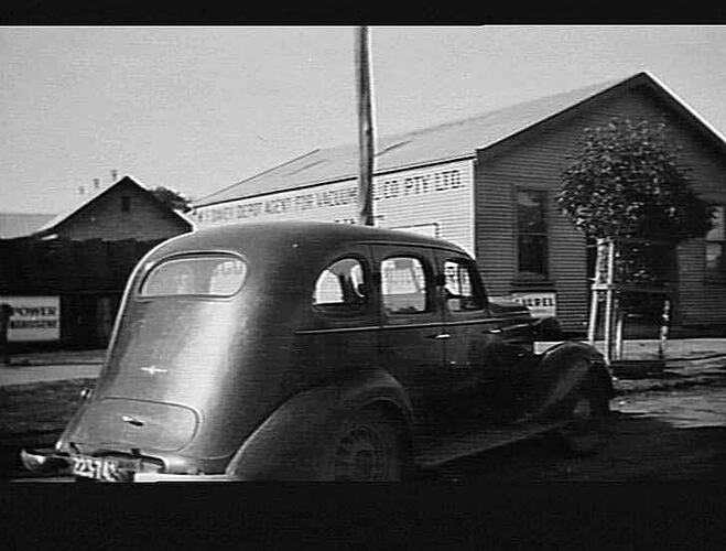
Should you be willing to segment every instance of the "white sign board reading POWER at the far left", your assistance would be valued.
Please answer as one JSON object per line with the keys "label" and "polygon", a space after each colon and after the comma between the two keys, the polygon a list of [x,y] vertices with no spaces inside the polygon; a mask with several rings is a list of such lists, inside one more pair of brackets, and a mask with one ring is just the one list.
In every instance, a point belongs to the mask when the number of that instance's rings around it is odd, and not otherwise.
{"label": "white sign board reading POWER at the far left", "polygon": [[13,309],[8,341],[57,341],[61,338],[61,299],[58,296],[0,296]]}

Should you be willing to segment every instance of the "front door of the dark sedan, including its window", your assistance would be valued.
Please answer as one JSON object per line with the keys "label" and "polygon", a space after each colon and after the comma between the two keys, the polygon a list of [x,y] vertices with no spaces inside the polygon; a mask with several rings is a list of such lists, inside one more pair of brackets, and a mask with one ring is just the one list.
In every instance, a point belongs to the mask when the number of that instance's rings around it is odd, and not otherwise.
{"label": "front door of the dark sedan, including its window", "polygon": [[495,379],[494,355],[502,343],[501,320],[487,307],[476,263],[456,251],[437,250],[436,269],[444,315],[445,370],[457,409],[486,409],[483,388]]}

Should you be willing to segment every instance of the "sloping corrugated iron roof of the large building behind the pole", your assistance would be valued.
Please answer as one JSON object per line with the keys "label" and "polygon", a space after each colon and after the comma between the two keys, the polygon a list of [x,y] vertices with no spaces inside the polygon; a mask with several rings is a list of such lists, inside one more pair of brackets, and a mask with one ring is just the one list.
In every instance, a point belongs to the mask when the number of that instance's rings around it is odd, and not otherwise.
{"label": "sloping corrugated iron roof of the large building behind the pole", "polygon": [[[375,172],[379,174],[407,166],[474,156],[477,150],[491,147],[630,78],[632,76],[517,104],[454,122],[381,137],[377,140]],[[316,149],[207,195],[197,201],[195,206],[348,180],[357,177],[357,144]]]}

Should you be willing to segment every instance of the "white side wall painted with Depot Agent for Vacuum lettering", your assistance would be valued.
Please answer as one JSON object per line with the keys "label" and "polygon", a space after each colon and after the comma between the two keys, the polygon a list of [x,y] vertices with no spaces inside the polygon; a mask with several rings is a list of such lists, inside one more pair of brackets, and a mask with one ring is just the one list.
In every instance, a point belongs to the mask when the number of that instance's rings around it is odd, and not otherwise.
{"label": "white side wall painted with Depot Agent for Vacuum lettering", "polygon": [[[373,176],[373,219],[382,228],[436,235],[474,249],[474,164],[470,160]],[[275,192],[197,207],[198,227],[261,218],[356,224],[357,180]]]}

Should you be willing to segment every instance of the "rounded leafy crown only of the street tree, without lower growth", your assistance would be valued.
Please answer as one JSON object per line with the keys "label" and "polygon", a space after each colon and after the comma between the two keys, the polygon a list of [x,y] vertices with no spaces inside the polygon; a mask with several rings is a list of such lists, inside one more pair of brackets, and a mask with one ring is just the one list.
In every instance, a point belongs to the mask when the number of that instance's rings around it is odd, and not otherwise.
{"label": "rounded leafy crown only of the street tree, without lower growth", "polygon": [[708,207],[690,186],[665,126],[614,118],[585,130],[562,176],[560,207],[592,238],[678,242],[711,228]]}

